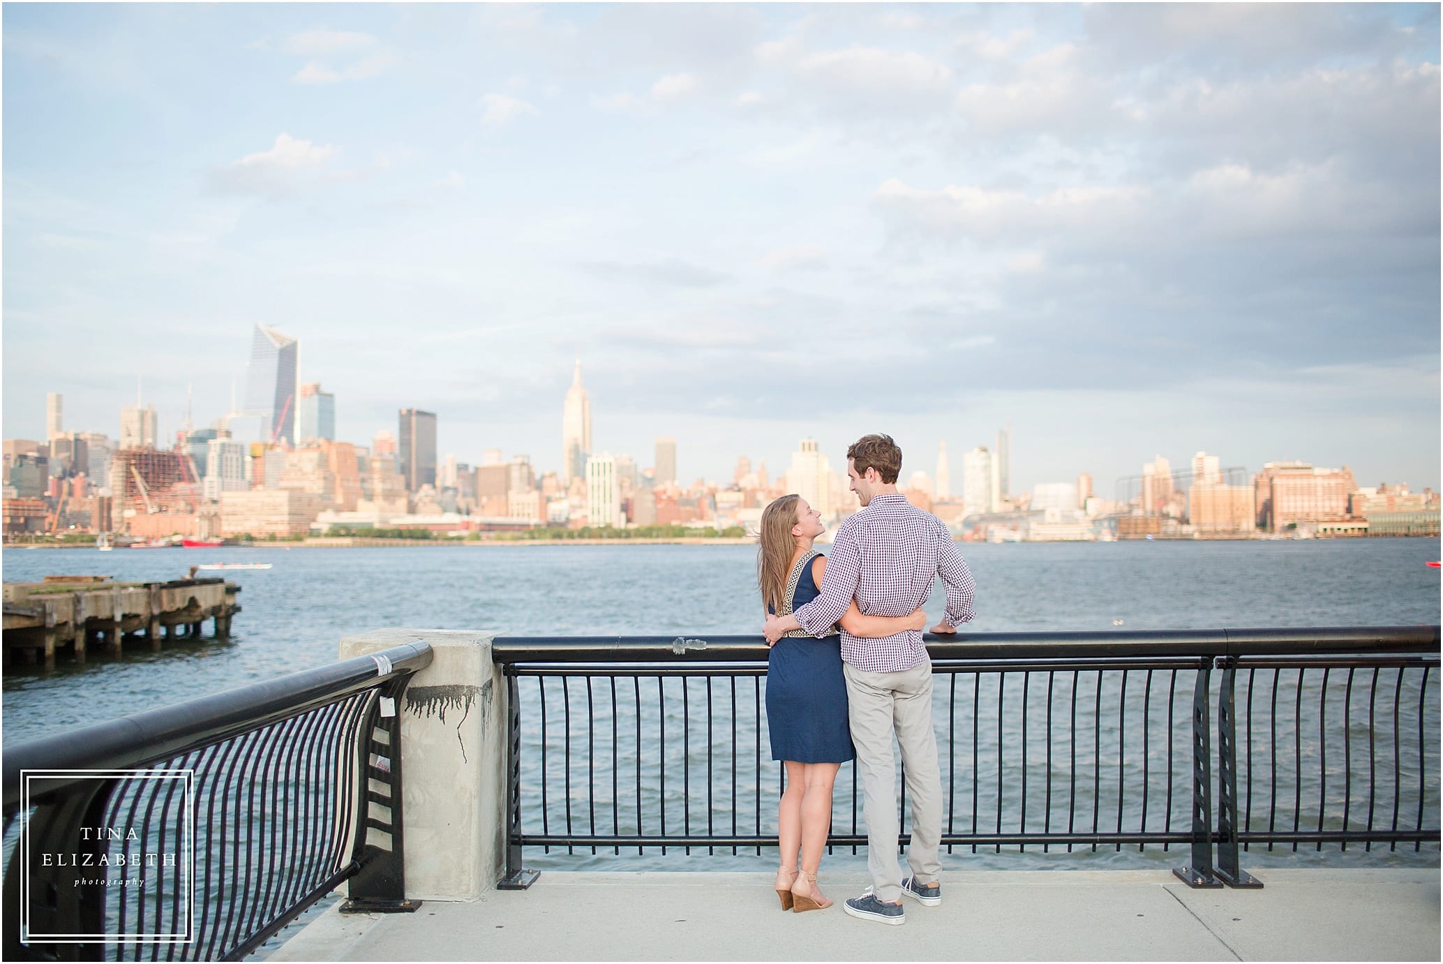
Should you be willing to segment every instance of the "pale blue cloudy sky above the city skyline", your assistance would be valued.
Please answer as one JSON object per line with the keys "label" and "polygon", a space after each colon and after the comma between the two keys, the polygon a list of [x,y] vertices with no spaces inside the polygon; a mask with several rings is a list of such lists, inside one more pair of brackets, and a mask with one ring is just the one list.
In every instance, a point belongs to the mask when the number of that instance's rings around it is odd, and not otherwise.
{"label": "pale blue cloudy sky above the city skyline", "polygon": [[[1439,9],[6,4],[6,437],[300,339],[342,439],[1439,483]],[[954,482],[954,486],[957,482]]]}

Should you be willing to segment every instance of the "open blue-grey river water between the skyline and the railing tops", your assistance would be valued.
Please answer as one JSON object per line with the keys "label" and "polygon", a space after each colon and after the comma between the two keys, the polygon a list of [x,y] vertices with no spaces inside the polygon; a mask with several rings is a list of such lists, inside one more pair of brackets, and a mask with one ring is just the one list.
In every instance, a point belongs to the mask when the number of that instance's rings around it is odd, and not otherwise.
{"label": "open blue-grey river water between the skyline and the railing tops", "polygon": [[[975,544],[964,547],[964,556],[977,577],[977,619],[970,626],[977,632],[1439,622],[1439,570],[1424,566],[1439,557],[1436,540]],[[273,566],[227,573],[242,587],[244,608],[228,641],[167,642],[159,654],[141,645],[120,661],[97,657],[84,665],[62,661],[53,672],[7,671],[4,740],[35,739],[322,665],[336,658],[341,636],[382,626],[496,629],[519,636],[704,636],[750,634],[760,626],[755,550],[747,545],[6,550],[3,569],[6,582],[46,574],[163,580],[182,577],[189,566],[205,561]],[[938,589],[926,606],[932,621],[941,616],[942,602]],[[1019,684],[1014,680],[1012,685]],[[1140,698],[1141,684],[1128,685],[1134,690],[1124,698]],[[1437,680],[1430,685],[1427,732],[1433,761]],[[1082,693],[1084,711],[1095,693]],[[1016,706],[1016,694],[1009,691],[1007,698]],[[1111,691],[1107,698],[1114,698]],[[1325,698],[1333,698],[1332,690]],[[1336,698],[1342,698],[1341,691]],[[1144,719],[1156,711],[1141,710]],[[605,719],[603,714],[603,723]],[[964,730],[967,726],[964,720]],[[1167,722],[1162,726],[1166,729]],[[636,748],[638,756],[654,752],[649,737],[645,739]],[[763,736],[763,753],[765,749]],[[672,740],[664,756],[677,752]],[[1121,758],[1123,748],[1117,752]],[[548,771],[558,781],[564,771],[556,769],[560,766],[556,758],[553,753]],[[700,758],[693,759],[700,765]],[[1410,775],[1427,785],[1424,797],[1436,821],[1436,766],[1431,774]],[[1007,779],[1010,774],[1006,779],[999,776],[999,801],[1010,792],[1004,786]],[[610,778],[605,782],[609,788]],[[644,795],[649,792],[648,788]],[[580,801],[582,797],[574,797],[577,805]],[[769,788],[765,807],[775,808],[775,789]],[[843,807],[838,799],[838,818]],[[1186,814],[1188,801],[1179,798],[1175,808]],[[846,811],[850,824],[850,804]],[[1411,853],[1411,846],[1407,850]],[[631,853],[626,869],[645,869],[636,863],[636,851]],[[587,849],[584,856],[567,857],[563,850],[538,854],[532,863],[602,867],[610,866],[608,856],[609,850],[603,850],[593,857]],[[1175,849],[1157,859],[1176,863],[1176,857]],[[1421,857],[1436,862],[1437,847],[1424,847]],[[1407,857],[1384,857],[1390,859]],[[674,856],[648,856],[642,863],[675,866],[674,860]],[[756,860],[769,862],[772,856]]]}

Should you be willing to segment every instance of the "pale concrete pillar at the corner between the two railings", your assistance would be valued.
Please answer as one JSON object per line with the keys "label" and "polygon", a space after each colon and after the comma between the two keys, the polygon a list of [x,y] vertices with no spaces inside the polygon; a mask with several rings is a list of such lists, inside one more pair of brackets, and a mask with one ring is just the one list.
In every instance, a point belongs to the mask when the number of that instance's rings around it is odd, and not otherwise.
{"label": "pale concrete pillar at the corner between the two railings", "polygon": [[401,714],[405,896],[476,901],[505,863],[505,680],[491,662],[495,632],[375,629],[341,641],[341,658],[426,642]]}

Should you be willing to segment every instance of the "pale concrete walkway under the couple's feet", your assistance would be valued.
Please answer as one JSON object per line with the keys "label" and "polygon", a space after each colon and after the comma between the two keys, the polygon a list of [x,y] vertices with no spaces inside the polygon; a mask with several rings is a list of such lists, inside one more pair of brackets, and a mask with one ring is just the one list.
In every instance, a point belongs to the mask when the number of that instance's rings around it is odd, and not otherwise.
{"label": "pale concrete walkway under the couple's feet", "polygon": [[753,873],[557,873],[473,903],[342,916],[273,961],[1437,961],[1439,870],[1267,870],[1263,890],[1192,890],[1167,872],[975,872],[906,924],[841,911],[866,880],[821,883],[827,911],[784,913]]}

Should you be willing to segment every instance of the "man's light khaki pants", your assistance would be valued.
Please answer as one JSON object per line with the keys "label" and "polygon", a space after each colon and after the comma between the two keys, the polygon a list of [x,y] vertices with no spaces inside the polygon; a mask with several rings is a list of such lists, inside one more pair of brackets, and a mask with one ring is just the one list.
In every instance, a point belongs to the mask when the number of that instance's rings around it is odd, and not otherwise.
{"label": "man's light khaki pants", "polygon": [[847,678],[851,742],[861,774],[867,818],[867,872],[879,901],[902,899],[898,863],[896,761],[892,735],[902,749],[906,792],[912,798],[912,846],[906,862],[918,883],[932,883],[942,870],[937,850],[942,838],[942,774],[937,766],[932,729],[932,661],[900,672],[866,672],[843,664]]}

